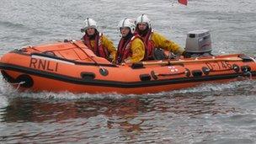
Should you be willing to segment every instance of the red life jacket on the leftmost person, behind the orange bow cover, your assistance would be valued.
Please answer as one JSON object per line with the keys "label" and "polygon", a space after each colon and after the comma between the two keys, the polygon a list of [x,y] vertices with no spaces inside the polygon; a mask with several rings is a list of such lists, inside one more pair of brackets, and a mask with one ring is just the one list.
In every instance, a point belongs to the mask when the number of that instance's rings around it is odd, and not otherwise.
{"label": "red life jacket on the leftmost person, behind the orange bow cover", "polygon": [[109,60],[109,51],[102,45],[103,34],[98,33],[94,39],[94,47],[91,45],[88,35],[83,35],[83,43],[87,45],[90,50],[94,52],[96,56],[104,57]]}

